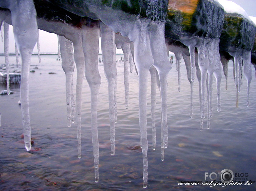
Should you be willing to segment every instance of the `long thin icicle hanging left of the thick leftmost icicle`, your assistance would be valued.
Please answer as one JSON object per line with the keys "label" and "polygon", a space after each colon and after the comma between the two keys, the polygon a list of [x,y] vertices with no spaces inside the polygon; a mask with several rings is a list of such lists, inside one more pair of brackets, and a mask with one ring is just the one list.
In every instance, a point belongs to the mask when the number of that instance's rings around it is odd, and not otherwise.
{"label": "long thin icicle hanging left of the thick leftmost icicle", "polygon": [[9,24],[4,21],[4,57],[6,64],[7,94],[10,94],[10,67],[9,67]]}

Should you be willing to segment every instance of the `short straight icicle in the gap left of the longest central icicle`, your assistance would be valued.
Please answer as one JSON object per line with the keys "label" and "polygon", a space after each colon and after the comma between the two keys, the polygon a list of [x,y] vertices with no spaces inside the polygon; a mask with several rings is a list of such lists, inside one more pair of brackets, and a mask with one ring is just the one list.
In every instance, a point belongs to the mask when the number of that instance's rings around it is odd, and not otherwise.
{"label": "short straight icicle in the gap left of the longest central icicle", "polygon": [[130,43],[124,42],[122,44],[122,51],[124,52],[124,84],[125,84],[125,107],[129,108],[129,58],[130,58]]}

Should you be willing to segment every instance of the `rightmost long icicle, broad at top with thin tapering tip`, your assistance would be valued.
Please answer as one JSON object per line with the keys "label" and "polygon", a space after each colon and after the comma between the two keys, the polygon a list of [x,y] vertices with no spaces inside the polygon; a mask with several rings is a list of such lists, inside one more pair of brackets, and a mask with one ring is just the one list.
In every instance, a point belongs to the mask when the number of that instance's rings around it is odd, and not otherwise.
{"label": "rightmost long icicle, broad at top with thin tapering tip", "polygon": [[243,57],[244,74],[247,80],[247,107],[249,107],[250,84],[252,80],[251,51],[244,51],[242,57]]}

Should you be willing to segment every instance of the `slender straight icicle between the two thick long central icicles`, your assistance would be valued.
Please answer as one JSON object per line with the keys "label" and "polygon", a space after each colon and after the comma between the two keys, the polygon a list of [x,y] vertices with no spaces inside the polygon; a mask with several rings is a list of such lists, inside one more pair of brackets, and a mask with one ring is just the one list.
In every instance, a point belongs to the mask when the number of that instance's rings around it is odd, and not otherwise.
{"label": "slender straight icicle between the two thick long central icicles", "polygon": [[152,121],[152,148],[155,150],[156,129],[155,129],[155,108],[156,108],[156,69],[154,66],[149,68],[151,76],[151,121]]}

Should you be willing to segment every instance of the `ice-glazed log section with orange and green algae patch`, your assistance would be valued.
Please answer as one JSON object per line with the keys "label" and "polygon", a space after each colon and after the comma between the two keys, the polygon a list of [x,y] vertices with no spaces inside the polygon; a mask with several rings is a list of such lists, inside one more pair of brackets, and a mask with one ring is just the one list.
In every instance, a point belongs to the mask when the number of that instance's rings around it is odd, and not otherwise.
{"label": "ice-glazed log section with orange and green algae patch", "polygon": [[213,0],[169,0],[165,36],[182,38],[208,37],[218,39],[224,9]]}

